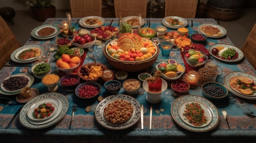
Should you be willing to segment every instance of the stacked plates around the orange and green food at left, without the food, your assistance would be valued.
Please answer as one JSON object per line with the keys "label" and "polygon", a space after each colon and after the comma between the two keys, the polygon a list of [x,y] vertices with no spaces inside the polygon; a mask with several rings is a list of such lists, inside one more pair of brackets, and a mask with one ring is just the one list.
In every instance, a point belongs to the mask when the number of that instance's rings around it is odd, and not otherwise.
{"label": "stacked plates around the orange and green food at left, without the food", "polygon": [[[40,52],[40,55],[38,55],[36,57],[29,58],[29,59],[19,59],[18,58],[20,53],[22,53],[26,50],[30,50],[31,48],[36,48]],[[44,54],[45,54],[45,47],[43,47],[41,45],[36,45],[36,44],[25,45],[20,48],[17,48],[15,51],[13,51],[13,53],[11,53],[10,59],[16,63],[29,63],[29,62],[36,61],[39,57],[41,57]]]}

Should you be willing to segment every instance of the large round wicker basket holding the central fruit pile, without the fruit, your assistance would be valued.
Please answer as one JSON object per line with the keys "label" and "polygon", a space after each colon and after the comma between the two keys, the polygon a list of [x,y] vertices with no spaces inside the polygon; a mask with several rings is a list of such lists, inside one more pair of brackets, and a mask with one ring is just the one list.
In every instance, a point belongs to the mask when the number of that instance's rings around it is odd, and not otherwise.
{"label": "large round wicker basket holding the central fruit pile, without the fruit", "polygon": [[158,54],[160,52],[159,47],[158,46],[156,47],[157,47],[157,53],[154,55],[154,57],[141,62],[125,62],[125,61],[117,61],[115,59],[112,59],[108,57],[108,55],[106,55],[106,47],[103,48],[103,54],[105,55],[108,63],[114,66],[115,68],[119,70],[124,70],[127,72],[137,72],[137,71],[145,70],[155,63],[155,61],[157,60]]}

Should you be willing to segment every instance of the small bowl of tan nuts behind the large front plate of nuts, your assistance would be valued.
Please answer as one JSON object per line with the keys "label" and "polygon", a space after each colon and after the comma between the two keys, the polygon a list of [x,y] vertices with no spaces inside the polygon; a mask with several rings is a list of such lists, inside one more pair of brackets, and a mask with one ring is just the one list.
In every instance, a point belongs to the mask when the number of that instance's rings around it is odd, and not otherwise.
{"label": "small bowl of tan nuts behind the large front plate of nuts", "polygon": [[136,95],[139,91],[140,86],[141,84],[137,79],[127,79],[123,83],[123,88],[125,92],[130,96]]}

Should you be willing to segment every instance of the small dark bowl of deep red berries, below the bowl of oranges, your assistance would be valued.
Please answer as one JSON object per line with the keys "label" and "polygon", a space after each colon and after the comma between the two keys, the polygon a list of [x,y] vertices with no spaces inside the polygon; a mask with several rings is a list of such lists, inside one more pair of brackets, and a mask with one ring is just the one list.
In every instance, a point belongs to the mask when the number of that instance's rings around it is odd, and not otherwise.
{"label": "small dark bowl of deep red berries, below the bowl of oranges", "polygon": [[73,91],[80,84],[80,77],[78,75],[65,75],[60,79],[61,86],[66,91]]}

